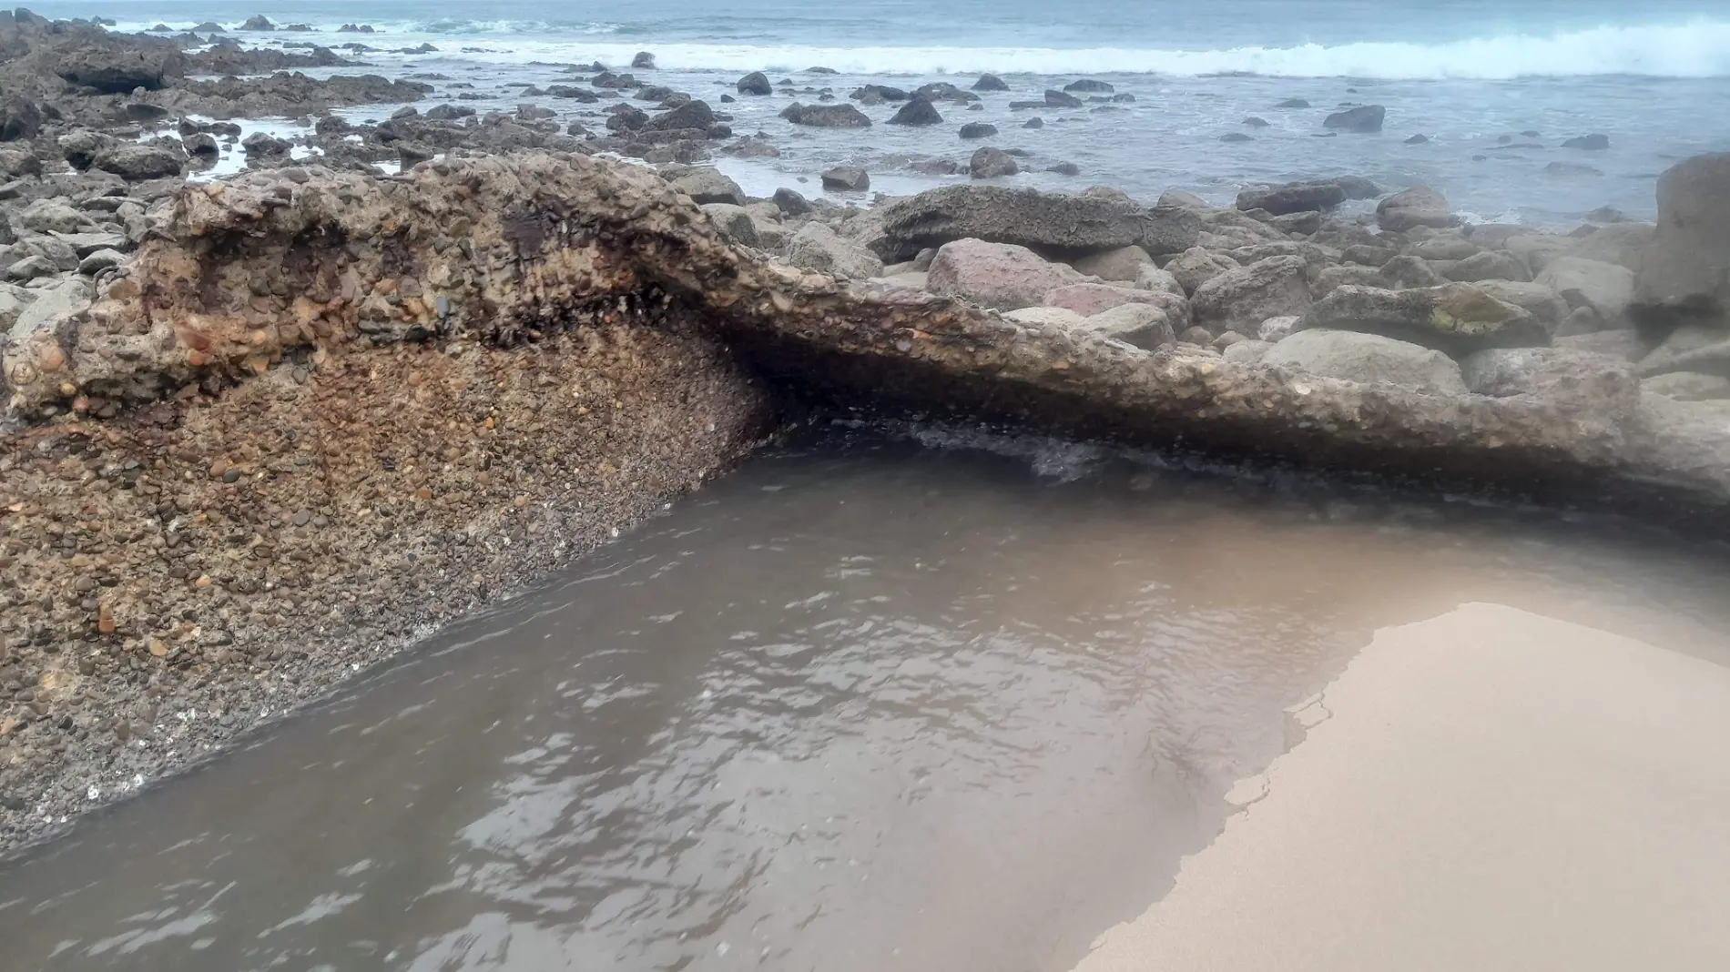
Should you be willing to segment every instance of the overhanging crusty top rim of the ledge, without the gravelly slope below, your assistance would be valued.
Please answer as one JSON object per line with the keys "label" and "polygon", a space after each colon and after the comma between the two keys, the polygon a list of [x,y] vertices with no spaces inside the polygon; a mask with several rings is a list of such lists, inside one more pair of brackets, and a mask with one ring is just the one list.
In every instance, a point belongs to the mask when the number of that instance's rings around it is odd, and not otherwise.
{"label": "overhanging crusty top rim of the ledge, without the gravelly slope below", "polygon": [[[111,413],[341,348],[514,346],[676,308],[772,374],[839,396],[1142,443],[1484,484],[1664,484],[1718,503],[1720,441],[1666,446],[1631,377],[1427,394],[1216,353],[1145,351],[903,287],[837,282],[735,246],[654,173],[519,154],[398,178],[254,173],[185,190],[168,239],[86,311],[5,351],[10,408]],[[38,315],[40,317],[40,315]],[[22,329],[21,329],[22,330]],[[1657,422],[1657,425],[1654,425]],[[1704,453],[1713,453],[1706,457]]]}

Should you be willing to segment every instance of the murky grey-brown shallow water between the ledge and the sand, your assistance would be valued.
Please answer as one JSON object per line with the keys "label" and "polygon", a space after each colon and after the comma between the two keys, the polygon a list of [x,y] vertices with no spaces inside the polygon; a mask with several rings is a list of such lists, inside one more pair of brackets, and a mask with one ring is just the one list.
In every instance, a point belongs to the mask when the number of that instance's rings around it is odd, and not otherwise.
{"label": "murky grey-brown shallow water between the ledge and the sand", "polygon": [[1605,524],[841,434],[0,865],[0,970],[1069,969],[1377,630],[1725,666],[1727,588]]}

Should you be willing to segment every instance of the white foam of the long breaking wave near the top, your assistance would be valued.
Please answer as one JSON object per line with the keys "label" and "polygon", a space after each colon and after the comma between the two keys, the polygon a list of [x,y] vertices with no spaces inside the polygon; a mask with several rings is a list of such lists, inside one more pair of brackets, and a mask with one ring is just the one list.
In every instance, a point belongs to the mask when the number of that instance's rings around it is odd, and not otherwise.
{"label": "white foam of the long breaking wave near the top", "polygon": [[[130,24],[126,24],[130,26]],[[1695,19],[1676,24],[1600,26],[1555,35],[1496,35],[1448,43],[1344,43],[1298,47],[1237,47],[1223,50],[1169,48],[1047,48],[1047,47],[804,47],[659,43],[652,35],[630,42],[581,40],[619,36],[614,22],[432,21],[388,24],[388,38],[438,42],[472,36],[498,45],[465,52],[495,62],[600,61],[630,64],[637,50],[652,50],[670,69],[799,71],[815,64],[849,74],[1263,74],[1285,78],[1579,78],[1631,74],[1647,78],[1730,76],[1730,21]],[[125,29],[125,26],[123,26]],[[258,36],[258,35],[254,35]],[[348,35],[353,36],[353,35]],[[365,35],[362,35],[365,36]],[[374,42],[379,43],[379,42]]]}

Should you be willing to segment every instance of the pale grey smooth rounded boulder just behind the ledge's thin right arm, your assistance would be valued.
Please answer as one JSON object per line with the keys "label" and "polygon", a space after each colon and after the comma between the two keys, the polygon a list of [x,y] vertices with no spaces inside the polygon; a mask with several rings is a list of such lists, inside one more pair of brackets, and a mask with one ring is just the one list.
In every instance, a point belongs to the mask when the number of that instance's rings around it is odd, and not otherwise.
{"label": "pale grey smooth rounded boulder just behind the ledge's thin right arm", "polygon": [[1465,394],[1460,365],[1441,351],[1355,330],[1301,330],[1261,356],[1266,367],[1427,394]]}

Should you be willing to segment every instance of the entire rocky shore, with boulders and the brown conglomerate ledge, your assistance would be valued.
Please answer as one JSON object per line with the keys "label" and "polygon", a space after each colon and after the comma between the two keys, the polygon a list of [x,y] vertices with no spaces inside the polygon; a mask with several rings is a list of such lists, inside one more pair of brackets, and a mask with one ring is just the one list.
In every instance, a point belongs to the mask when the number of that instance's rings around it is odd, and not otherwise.
{"label": "entire rocky shore, with boulders and the brown conglomerate ledge", "polygon": [[[251,171],[189,183],[239,137],[189,112],[419,97],[187,81],[190,47],[0,19],[0,851],[628,529],[782,394],[1702,524],[1730,502],[1727,156],[1666,173],[1656,227],[1569,235],[1351,176],[856,209],[683,164],[732,131],[668,92],[593,138],[327,114],[325,157],[247,138]],[[597,104],[642,88],[599,78]]]}

